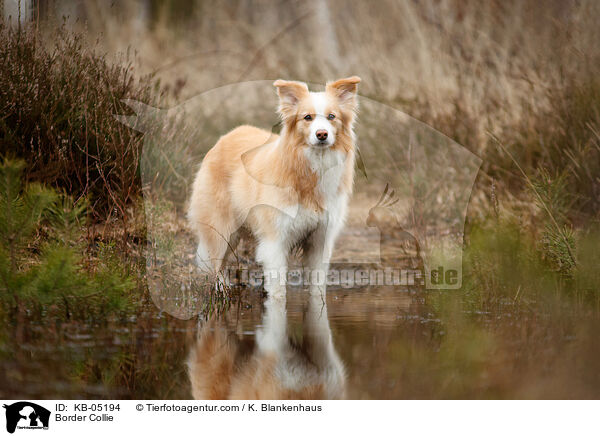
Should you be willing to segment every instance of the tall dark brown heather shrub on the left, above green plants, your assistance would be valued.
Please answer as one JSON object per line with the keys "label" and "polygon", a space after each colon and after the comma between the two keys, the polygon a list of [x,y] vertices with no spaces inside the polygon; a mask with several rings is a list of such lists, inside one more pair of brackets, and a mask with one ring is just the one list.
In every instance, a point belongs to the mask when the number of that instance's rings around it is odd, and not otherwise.
{"label": "tall dark brown heather shrub on the left, above green plants", "polygon": [[123,217],[140,192],[141,136],[114,115],[129,112],[122,99],[150,100],[158,82],[65,29],[53,40],[0,24],[0,155],[26,160],[28,180],[88,197],[96,218]]}

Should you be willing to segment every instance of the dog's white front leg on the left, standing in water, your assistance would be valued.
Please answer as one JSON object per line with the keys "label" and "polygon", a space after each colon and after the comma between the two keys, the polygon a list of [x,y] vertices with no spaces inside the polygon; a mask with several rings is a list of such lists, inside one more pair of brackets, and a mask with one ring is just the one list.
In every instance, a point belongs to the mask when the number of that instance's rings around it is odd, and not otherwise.
{"label": "dog's white front leg on the left, standing in water", "polygon": [[264,288],[269,297],[285,297],[288,249],[282,241],[263,240],[256,248],[256,260],[262,264]]}

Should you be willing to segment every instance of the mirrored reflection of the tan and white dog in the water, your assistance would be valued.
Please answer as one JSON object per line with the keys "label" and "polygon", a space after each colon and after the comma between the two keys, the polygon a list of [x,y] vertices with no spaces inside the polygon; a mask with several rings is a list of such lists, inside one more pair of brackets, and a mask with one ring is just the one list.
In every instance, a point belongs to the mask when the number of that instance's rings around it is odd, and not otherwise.
{"label": "mirrored reflection of the tan and white dog in the water", "polygon": [[345,372],[331,338],[327,306],[310,296],[301,343],[287,334],[285,299],[265,302],[254,349],[214,321],[198,334],[188,358],[195,399],[342,399]]}

